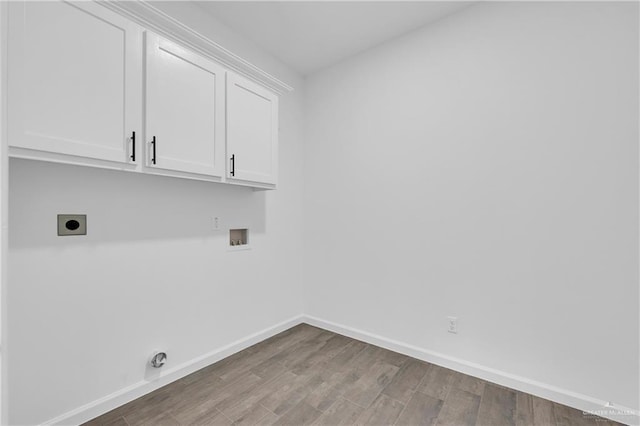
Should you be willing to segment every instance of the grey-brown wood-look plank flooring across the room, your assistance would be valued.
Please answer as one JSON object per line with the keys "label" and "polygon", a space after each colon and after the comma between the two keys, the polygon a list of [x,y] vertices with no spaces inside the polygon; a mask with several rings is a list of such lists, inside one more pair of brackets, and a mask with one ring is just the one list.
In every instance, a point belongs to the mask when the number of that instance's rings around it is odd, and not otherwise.
{"label": "grey-brown wood-look plank flooring across the room", "polygon": [[613,425],[302,324],[86,425]]}

